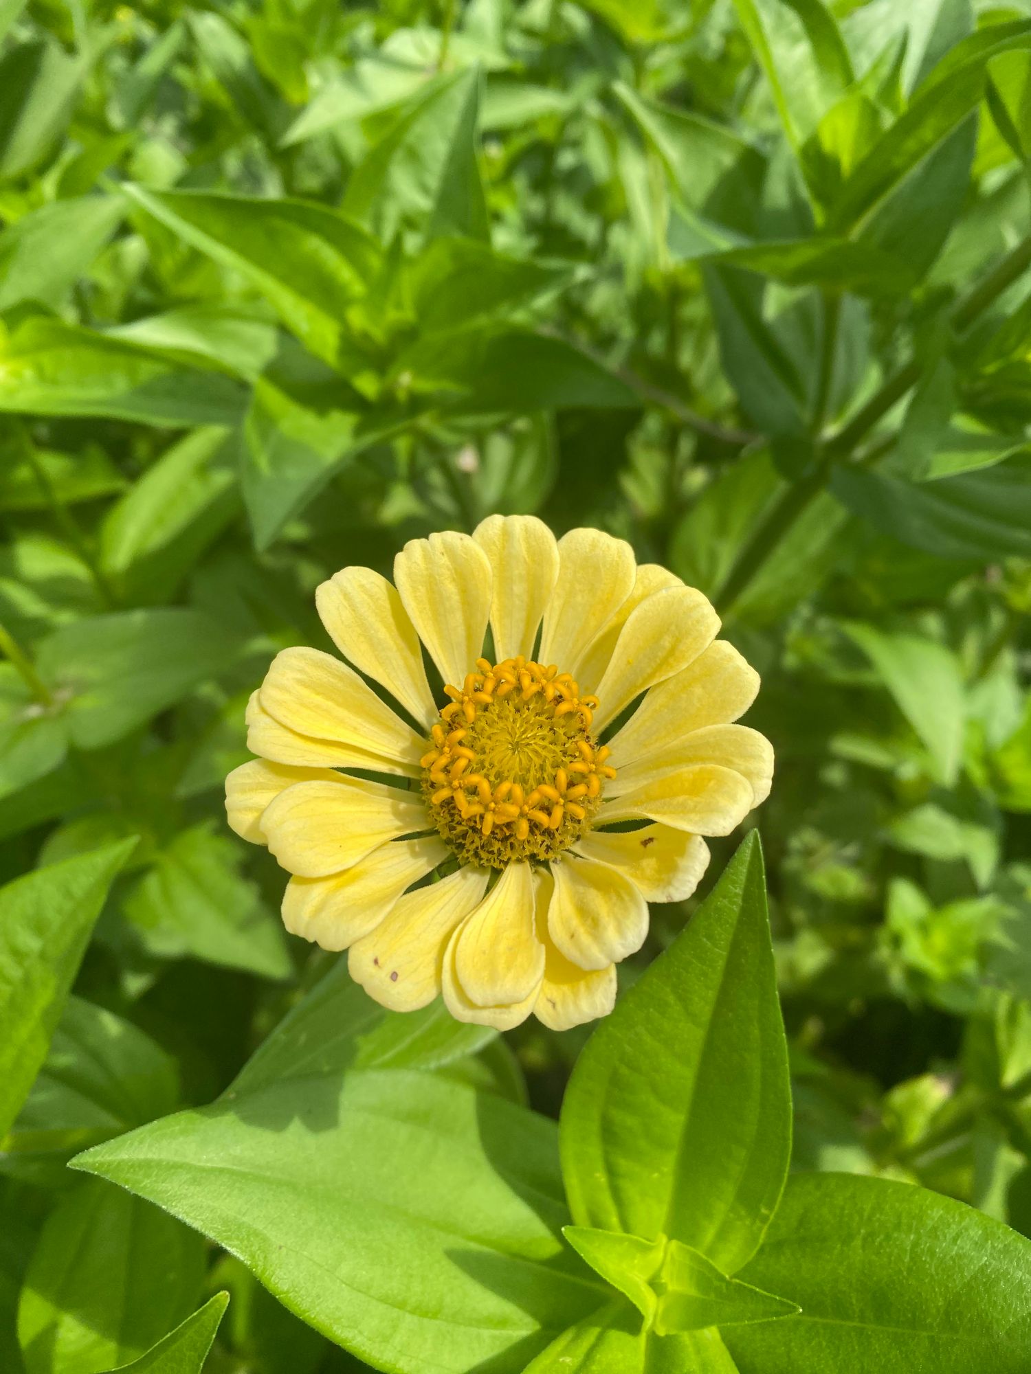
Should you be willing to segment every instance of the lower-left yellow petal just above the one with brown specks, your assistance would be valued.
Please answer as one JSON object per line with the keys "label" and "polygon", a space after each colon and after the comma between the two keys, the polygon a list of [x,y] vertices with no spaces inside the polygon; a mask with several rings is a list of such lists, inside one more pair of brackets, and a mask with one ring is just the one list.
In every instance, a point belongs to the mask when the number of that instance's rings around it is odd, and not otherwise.
{"label": "lower-left yellow petal just above the one with brown specks", "polygon": [[443,840],[396,840],[327,878],[291,878],[283,894],[283,925],[323,949],[346,949],[375,930],[401,893],[443,863]]}

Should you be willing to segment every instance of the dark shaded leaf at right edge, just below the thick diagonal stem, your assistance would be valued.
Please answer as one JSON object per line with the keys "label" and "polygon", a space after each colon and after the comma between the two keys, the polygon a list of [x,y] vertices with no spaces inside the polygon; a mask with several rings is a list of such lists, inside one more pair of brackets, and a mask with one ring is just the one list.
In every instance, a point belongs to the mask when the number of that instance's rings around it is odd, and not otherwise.
{"label": "dark shaded leaf at right edge, just below the thick diagonal stem", "polygon": [[1031,556],[1028,453],[927,482],[840,466],[830,485],[855,515],[925,554],[979,563]]}

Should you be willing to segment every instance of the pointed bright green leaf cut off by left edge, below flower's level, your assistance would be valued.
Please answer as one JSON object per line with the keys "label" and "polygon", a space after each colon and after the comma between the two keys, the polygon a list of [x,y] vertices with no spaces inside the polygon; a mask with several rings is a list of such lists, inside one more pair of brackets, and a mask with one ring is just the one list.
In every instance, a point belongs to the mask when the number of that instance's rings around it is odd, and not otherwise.
{"label": "pointed bright green leaf cut off by left edge, below flower's level", "polygon": [[107,889],[136,841],[0,888],[0,1135],[29,1095]]}

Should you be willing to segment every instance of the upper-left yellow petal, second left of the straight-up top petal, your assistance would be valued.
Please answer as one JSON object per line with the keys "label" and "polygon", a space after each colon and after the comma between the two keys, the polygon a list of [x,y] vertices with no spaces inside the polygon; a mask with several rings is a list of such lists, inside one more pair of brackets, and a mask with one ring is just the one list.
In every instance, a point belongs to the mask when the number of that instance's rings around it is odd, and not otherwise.
{"label": "upper-left yellow petal, second left of the straight-up top petal", "polygon": [[429,730],[437,706],[422,666],[419,636],[397,588],[371,567],[344,567],[316,588],[315,605],[341,654]]}

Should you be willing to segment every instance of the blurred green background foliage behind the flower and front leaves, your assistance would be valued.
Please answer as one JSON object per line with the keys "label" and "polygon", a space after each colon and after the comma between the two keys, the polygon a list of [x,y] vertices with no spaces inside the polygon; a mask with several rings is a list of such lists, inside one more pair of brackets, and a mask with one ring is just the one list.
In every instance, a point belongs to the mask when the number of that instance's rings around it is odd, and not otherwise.
{"label": "blurred green background foliage behind the flower and front leaves", "polygon": [[[223,822],[249,692],[322,578],[491,511],[628,539],[763,673],[797,1165],[1031,1234],[1031,4],[0,0],[0,877],[139,837],[4,1142],[3,1367],[19,1303],[27,1374],[111,1359],[54,1337],[103,1326],[60,1256],[132,1224],[69,1154],[209,1101],[331,962]],[[506,1039],[554,1114],[581,1036]],[[209,1261],[213,1370],[357,1367]]]}

